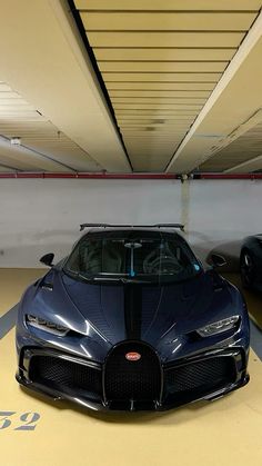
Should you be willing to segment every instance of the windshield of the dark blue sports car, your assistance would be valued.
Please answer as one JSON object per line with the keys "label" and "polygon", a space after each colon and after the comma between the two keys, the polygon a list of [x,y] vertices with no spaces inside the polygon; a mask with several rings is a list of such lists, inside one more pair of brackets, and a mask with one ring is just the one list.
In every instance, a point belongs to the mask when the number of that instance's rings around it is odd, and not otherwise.
{"label": "windshield of the dark blue sports car", "polygon": [[200,264],[179,235],[158,231],[89,234],[64,266],[66,272],[80,279],[143,282],[185,280],[200,270]]}

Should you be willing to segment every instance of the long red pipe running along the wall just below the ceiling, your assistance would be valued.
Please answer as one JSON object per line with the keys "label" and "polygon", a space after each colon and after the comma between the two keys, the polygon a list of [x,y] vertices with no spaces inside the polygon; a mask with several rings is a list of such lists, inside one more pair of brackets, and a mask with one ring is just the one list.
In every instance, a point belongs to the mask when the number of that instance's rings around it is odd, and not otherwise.
{"label": "long red pipe running along the wall just below the ceiling", "polygon": [[[173,173],[56,173],[56,172],[0,172],[0,179],[144,179],[144,180],[172,180],[184,179],[181,175]],[[262,173],[192,173],[189,176],[191,179],[210,179],[210,180],[232,180],[232,179],[262,179]]]}

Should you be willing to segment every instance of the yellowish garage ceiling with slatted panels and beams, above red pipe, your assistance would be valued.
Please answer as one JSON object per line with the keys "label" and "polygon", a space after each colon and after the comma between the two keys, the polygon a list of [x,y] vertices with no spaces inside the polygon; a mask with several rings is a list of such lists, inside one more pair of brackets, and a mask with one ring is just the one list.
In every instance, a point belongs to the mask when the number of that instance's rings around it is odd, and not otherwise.
{"label": "yellowish garage ceiling with slatted panels and beams, above red pipe", "polygon": [[0,171],[262,169],[261,4],[3,2]]}

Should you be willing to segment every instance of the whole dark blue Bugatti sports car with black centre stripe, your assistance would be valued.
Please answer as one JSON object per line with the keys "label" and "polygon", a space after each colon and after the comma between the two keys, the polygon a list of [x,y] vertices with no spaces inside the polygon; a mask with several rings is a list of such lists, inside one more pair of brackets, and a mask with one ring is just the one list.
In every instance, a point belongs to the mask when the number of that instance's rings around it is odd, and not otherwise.
{"label": "whole dark blue Bugatti sports car with black centre stripe", "polygon": [[95,410],[169,409],[249,381],[239,290],[175,228],[88,228],[19,305],[17,380]]}

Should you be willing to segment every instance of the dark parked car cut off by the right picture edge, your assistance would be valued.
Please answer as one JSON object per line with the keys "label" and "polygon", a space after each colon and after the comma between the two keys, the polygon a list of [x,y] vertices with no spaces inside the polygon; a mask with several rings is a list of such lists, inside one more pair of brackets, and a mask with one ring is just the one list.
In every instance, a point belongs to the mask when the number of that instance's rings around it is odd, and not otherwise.
{"label": "dark parked car cut off by the right picture edge", "polygon": [[245,288],[262,291],[262,235],[245,238],[240,255],[240,274]]}

